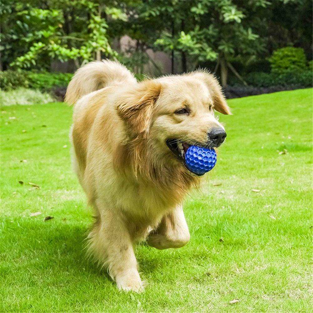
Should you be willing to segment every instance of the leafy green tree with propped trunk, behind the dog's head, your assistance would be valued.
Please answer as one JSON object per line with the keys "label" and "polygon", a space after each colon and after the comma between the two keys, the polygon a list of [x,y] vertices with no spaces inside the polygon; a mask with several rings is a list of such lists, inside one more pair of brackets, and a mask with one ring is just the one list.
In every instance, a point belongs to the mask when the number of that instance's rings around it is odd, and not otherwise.
{"label": "leafy green tree with propped trunk, behind the dog's head", "polygon": [[[257,32],[262,25],[262,9],[269,5],[266,0],[233,1],[233,0],[197,0],[190,1],[191,7],[178,2],[173,10],[182,15],[185,29],[176,32],[163,32],[155,44],[168,51],[179,49],[193,61],[217,60],[220,68],[221,82],[227,83],[228,69],[240,79],[230,60],[235,56],[247,57],[262,51],[264,43]],[[194,67],[193,66],[193,67]]]}

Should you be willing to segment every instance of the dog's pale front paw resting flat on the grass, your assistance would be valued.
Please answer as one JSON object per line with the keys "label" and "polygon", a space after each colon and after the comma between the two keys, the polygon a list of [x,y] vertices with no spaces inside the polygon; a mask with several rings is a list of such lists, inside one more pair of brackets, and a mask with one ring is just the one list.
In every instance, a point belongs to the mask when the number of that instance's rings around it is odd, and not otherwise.
{"label": "dog's pale front paw resting flat on the grass", "polygon": [[119,290],[142,292],[146,286],[146,281],[141,281],[137,270],[129,270],[124,275],[116,277],[116,285]]}

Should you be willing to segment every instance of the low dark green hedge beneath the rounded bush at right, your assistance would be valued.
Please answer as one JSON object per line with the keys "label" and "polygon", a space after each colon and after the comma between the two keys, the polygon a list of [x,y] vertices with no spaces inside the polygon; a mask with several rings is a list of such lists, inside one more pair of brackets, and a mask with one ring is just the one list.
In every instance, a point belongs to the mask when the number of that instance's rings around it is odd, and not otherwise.
{"label": "low dark green hedge beneath the rounded bush at right", "polygon": [[290,86],[312,87],[312,72],[310,70],[285,70],[283,72],[254,72],[244,77],[248,85],[254,87]]}

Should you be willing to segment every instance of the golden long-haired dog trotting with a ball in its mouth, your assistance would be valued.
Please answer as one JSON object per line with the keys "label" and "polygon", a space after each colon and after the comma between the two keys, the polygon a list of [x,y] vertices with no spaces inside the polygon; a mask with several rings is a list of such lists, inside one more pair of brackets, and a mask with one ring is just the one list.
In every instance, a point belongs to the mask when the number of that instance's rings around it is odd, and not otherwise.
{"label": "golden long-haired dog trotting with a ball in its mouth", "polygon": [[74,105],[74,171],[95,211],[88,251],[118,289],[142,291],[134,244],[187,244],[181,203],[201,177],[187,169],[184,155],[192,144],[220,146],[226,132],[213,110],[230,109],[205,70],[137,82],[109,60],[78,69],[65,101]]}

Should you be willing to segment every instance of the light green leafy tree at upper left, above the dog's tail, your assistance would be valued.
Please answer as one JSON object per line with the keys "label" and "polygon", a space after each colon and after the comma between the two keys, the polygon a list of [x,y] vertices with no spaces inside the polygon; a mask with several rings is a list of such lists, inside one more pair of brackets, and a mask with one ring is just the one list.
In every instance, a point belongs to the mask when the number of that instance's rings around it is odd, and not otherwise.
{"label": "light green leafy tree at upper left, above the dog's tail", "polygon": [[1,4],[2,49],[22,46],[11,66],[29,68],[43,59],[73,59],[76,67],[100,59],[101,53],[116,56],[110,46],[107,18],[126,20],[126,14],[113,1],[4,1]]}

